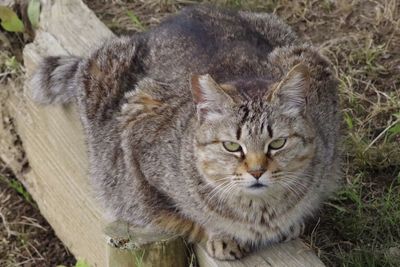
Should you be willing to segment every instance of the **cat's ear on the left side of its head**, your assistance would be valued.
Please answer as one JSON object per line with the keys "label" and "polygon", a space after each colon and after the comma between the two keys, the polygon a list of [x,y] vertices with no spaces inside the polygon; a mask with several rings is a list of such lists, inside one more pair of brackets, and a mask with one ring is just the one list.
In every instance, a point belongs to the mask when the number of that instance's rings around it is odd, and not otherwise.
{"label": "cat's ear on the left side of its head", "polygon": [[200,122],[220,118],[223,107],[233,103],[233,99],[208,74],[192,75],[191,90]]}

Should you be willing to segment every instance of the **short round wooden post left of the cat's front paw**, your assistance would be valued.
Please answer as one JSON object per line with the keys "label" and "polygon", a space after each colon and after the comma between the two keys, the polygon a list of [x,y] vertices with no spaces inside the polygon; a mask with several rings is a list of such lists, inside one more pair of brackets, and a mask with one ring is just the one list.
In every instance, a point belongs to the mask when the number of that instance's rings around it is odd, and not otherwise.
{"label": "short round wooden post left of the cat's front paw", "polygon": [[108,267],[185,267],[187,248],[178,236],[155,235],[124,222],[108,225]]}

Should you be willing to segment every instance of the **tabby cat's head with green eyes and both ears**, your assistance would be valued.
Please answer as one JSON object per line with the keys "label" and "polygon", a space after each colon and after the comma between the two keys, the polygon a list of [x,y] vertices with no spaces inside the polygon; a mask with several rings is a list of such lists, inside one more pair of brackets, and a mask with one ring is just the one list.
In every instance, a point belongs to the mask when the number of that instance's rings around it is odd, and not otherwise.
{"label": "tabby cat's head with green eyes and both ears", "polygon": [[[260,93],[260,88],[249,88],[252,85],[267,88]],[[299,176],[304,176],[315,154],[306,103],[309,86],[303,64],[270,83],[218,84],[209,75],[192,76],[199,122],[197,168],[216,194],[225,190],[262,196],[277,186],[300,185],[297,179],[308,179]],[[258,94],[249,97],[251,91]]]}

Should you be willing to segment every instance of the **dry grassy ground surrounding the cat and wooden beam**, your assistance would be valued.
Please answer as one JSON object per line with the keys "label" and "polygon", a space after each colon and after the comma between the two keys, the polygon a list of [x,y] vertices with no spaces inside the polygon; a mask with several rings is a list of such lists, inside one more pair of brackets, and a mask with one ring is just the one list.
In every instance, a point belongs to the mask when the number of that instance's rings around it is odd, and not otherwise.
{"label": "dry grassy ground surrounding the cat and wooden beam", "polygon": [[[199,1],[84,2],[115,33],[130,34]],[[344,117],[343,184],[303,239],[327,266],[400,266],[400,2],[201,2],[276,13],[332,62]],[[21,51],[10,47],[21,48],[25,39],[9,39],[0,85],[22,73]],[[0,266],[72,266],[29,194],[8,168],[0,174]]]}

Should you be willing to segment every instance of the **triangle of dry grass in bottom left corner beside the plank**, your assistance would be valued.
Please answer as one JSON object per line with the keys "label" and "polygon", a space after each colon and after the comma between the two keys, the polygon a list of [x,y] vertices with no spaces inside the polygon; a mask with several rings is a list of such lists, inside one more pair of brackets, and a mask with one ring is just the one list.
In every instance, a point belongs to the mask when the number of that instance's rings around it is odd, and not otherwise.
{"label": "triangle of dry grass in bottom left corner beside the plank", "polygon": [[40,215],[29,193],[3,168],[0,176],[0,266],[72,264],[74,257]]}

